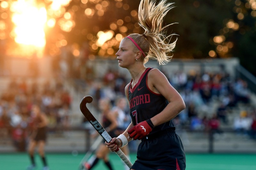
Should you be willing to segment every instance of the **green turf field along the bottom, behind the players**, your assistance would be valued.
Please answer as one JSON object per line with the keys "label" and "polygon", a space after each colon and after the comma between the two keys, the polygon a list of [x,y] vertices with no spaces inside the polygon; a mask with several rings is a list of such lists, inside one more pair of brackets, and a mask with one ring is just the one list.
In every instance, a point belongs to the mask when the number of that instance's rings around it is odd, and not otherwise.
{"label": "green turf field along the bottom, behind the players", "polygon": [[[78,170],[78,164],[84,155],[71,153],[47,153],[47,161],[51,170]],[[186,170],[256,170],[256,154],[187,154]],[[121,159],[110,154],[115,170],[123,170]],[[131,155],[132,162],[136,155]],[[36,154],[37,170],[42,168],[41,160]],[[0,154],[0,170],[26,170],[29,158],[26,153]],[[94,170],[107,170],[102,161]]]}

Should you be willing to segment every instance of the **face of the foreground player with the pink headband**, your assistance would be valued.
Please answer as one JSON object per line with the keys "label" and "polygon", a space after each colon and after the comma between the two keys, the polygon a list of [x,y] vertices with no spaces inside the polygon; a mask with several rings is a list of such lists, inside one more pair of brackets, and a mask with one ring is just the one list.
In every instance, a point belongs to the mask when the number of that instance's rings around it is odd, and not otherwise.
{"label": "face of the foreground player with the pink headband", "polygon": [[119,50],[116,53],[119,66],[128,68],[131,64],[135,63],[136,53],[133,51],[134,45],[129,39],[123,39],[120,42]]}

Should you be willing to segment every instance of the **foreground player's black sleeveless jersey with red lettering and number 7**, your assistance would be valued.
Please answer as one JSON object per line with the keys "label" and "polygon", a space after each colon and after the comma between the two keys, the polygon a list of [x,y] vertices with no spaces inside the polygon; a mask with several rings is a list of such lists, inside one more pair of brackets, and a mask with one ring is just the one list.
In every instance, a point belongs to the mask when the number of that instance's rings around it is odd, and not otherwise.
{"label": "foreground player's black sleeveless jersey with red lettering and number 7", "polygon": [[[136,125],[140,122],[148,120],[159,114],[168,104],[168,100],[163,95],[152,92],[147,85],[148,72],[152,68],[147,68],[141,75],[138,83],[132,88],[128,86],[130,116],[132,124]],[[154,134],[160,130],[175,128],[172,120],[156,126],[150,134]]]}

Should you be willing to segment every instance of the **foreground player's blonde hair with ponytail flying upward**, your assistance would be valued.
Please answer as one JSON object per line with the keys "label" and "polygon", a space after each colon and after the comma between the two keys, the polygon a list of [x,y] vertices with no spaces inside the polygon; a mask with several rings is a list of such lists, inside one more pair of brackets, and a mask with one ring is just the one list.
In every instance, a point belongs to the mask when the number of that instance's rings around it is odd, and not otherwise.
{"label": "foreground player's blonde hair with ponytail flying upward", "polygon": [[170,43],[173,35],[166,36],[166,28],[172,24],[162,27],[165,15],[174,6],[174,3],[166,3],[166,0],[161,0],[156,4],[154,0],[141,0],[138,10],[139,24],[145,30],[143,35],[131,34],[131,37],[143,50],[146,57],[144,63],[148,62],[148,58],[157,60],[159,65],[166,64],[171,61],[172,55],[168,56],[176,45],[177,38]]}

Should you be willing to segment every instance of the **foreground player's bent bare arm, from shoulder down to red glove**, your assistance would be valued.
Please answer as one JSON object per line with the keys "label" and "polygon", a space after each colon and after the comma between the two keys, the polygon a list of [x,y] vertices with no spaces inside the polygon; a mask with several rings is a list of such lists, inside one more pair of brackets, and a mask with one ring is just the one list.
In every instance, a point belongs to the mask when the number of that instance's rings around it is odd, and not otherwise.
{"label": "foreground player's bent bare arm, from shoulder down to red glove", "polygon": [[161,71],[158,69],[150,70],[147,83],[151,91],[162,94],[169,101],[161,113],[151,118],[154,126],[170,121],[185,109],[185,103],[180,94],[172,87]]}

